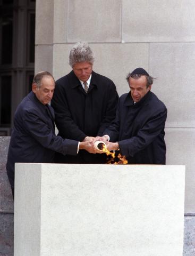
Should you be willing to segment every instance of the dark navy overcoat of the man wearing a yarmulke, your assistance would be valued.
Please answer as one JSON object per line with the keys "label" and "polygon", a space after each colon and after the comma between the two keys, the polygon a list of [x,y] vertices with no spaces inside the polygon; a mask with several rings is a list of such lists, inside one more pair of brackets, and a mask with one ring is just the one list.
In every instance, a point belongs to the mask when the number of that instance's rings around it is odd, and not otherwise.
{"label": "dark navy overcoat of the man wearing a yarmulke", "polygon": [[131,93],[120,97],[116,118],[104,132],[118,141],[122,155],[132,164],[165,164],[165,121],[167,109],[152,92],[139,102]]}

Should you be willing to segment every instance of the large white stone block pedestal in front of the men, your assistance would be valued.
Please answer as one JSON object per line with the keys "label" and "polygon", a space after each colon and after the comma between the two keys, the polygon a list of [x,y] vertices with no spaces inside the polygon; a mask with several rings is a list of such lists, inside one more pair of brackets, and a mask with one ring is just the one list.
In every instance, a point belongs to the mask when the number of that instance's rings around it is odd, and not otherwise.
{"label": "large white stone block pedestal in front of the men", "polygon": [[16,164],[14,256],[182,256],[185,166]]}

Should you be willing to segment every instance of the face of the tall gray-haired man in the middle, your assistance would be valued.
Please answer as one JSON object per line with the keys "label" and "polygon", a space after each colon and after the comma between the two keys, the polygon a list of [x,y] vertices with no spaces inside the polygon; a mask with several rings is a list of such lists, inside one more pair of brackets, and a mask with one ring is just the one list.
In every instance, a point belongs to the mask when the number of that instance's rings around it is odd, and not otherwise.
{"label": "face of the tall gray-haired man in the middle", "polygon": [[91,75],[92,67],[93,65],[89,62],[76,62],[72,69],[79,80],[86,82]]}

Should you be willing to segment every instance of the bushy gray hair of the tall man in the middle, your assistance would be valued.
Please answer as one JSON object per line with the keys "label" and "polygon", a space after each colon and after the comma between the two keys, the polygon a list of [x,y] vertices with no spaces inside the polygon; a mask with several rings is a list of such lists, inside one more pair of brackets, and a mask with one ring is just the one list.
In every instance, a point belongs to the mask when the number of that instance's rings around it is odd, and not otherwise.
{"label": "bushy gray hair of the tall man in the middle", "polygon": [[94,63],[94,54],[87,42],[75,44],[69,54],[69,65],[73,68],[76,62]]}

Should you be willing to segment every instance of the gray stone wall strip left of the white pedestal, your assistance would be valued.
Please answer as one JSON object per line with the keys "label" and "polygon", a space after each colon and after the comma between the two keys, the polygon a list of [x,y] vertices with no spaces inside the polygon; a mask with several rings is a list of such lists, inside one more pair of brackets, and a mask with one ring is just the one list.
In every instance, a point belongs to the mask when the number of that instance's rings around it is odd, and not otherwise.
{"label": "gray stone wall strip left of the white pedestal", "polygon": [[13,256],[13,199],[6,174],[10,137],[0,137],[0,256]]}

